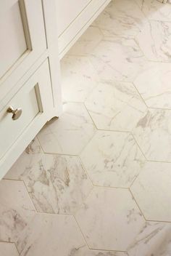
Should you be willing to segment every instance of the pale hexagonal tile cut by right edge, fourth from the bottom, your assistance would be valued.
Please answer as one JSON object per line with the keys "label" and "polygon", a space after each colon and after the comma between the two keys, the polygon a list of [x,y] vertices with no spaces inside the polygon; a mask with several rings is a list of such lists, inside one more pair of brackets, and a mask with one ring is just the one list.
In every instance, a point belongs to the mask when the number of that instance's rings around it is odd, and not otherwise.
{"label": "pale hexagonal tile cut by right edge, fourth from the bottom", "polygon": [[134,84],[143,100],[151,108],[171,108],[171,66],[154,63],[138,75]]}

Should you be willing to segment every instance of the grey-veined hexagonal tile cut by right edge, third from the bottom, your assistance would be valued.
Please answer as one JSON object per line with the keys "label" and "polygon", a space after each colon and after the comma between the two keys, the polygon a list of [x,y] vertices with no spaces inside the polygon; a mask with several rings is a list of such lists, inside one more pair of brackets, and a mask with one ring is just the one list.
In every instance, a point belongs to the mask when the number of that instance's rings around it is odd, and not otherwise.
{"label": "grey-veined hexagonal tile cut by right edge, third from the bottom", "polygon": [[149,109],[133,130],[149,161],[171,161],[171,111]]}

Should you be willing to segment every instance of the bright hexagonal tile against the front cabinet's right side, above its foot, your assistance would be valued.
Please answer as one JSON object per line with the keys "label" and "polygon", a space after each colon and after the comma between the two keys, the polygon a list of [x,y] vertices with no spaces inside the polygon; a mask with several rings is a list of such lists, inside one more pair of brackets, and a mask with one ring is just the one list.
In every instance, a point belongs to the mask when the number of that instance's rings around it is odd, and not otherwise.
{"label": "bright hexagonal tile against the front cabinet's right side, above its foot", "polygon": [[83,102],[96,87],[98,76],[88,57],[65,56],[61,61],[61,71],[65,101]]}

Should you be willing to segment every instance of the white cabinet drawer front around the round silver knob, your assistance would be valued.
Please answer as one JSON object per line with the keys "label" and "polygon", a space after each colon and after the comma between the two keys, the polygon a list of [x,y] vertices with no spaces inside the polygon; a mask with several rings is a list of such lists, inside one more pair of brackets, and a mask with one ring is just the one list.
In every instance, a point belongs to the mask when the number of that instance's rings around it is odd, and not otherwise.
{"label": "white cabinet drawer front around the round silver knob", "polygon": [[[12,119],[12,113],[7,111],[9,106],[22,109],[18,119]],[[41,116],[48,116],[48,109],[51,108],[53,97],[49,63],[46,60],[0,112],[0,159],[22,132]]]}

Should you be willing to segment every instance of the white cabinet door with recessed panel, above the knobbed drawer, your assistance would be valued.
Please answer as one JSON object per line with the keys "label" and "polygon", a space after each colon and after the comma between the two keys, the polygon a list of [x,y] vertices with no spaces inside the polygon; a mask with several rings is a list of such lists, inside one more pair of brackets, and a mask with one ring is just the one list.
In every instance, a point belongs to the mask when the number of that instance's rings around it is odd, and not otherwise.
{"label": "white cabinet door with recessed panel, above the knobbed drawer", "polygon": [[0,101],[45,50],[41,0],[0,1]]}

